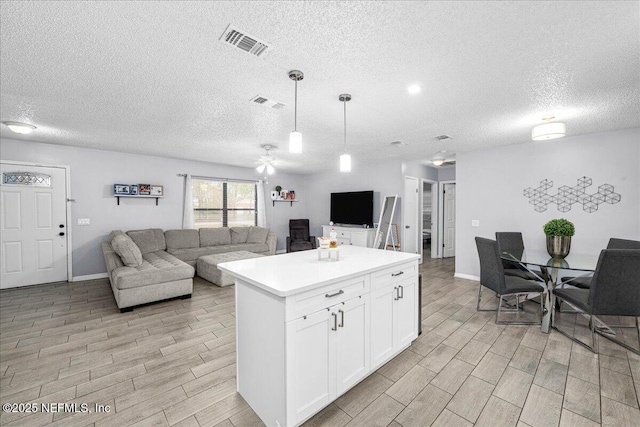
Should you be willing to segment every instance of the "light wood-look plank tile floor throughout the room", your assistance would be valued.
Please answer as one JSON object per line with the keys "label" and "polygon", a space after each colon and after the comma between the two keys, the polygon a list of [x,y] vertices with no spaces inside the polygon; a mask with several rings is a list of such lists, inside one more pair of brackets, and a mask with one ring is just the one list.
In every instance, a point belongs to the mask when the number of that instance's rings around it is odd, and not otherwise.
{"label": "light wood-look plank tile floor throughout the room", "polygon": [[[495,325],[453,263],[421,267],[423,334],[307,426],[640,426],[640,356]],[[111,410],[2,412],[0,425],[262,425],[235,391],[234,320],[234,288],[199,278],[190,300],[124,314],[106,280],[3,290],[2,403]]]}

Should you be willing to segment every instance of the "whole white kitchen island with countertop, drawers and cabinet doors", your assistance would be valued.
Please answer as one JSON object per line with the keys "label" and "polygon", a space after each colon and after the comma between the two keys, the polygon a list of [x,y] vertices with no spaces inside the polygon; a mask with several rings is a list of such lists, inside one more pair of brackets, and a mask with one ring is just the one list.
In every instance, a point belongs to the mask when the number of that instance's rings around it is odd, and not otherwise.
{"label": "whole white kitchen island with countertop, drawers and cabinet doors", "polygon": [[415,254],[356,246],[222,263],[236,278],[238,392],[267,426],[298,426],[418,336]]}

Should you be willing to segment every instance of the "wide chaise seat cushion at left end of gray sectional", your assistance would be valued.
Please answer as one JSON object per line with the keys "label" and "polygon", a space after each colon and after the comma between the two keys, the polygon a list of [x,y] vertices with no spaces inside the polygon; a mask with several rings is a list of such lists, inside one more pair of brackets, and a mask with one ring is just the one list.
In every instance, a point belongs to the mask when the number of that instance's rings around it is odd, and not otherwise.
{"label": "wide chaise seat cushion at left end of gray sectional", "polygon": [[143,255],[138,267],[119,267],[111,273],[111,279],[117,289],[130,289],[157,283],[190,279],[195,270],[188,264],[165,251],[150,252]]}

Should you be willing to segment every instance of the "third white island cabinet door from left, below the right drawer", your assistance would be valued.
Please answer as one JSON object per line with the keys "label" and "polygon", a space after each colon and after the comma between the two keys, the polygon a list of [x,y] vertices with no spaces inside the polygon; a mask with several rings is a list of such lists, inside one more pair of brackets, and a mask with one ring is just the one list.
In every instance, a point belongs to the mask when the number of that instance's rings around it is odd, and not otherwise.
{"label": "third white island cabinet door from left, below the right drawer", "polygon": [[371,293],[371,368],[376,369],[394,353],[393,312],[396,287]]}

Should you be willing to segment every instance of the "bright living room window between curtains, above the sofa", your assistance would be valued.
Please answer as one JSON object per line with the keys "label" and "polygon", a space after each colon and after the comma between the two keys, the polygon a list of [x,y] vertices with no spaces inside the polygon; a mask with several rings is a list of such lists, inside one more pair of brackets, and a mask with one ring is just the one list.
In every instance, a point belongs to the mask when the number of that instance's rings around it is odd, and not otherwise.
{"label": "bright living room window between curtains, above the sofa", "polygon": [[257,185],[254,182],[192,179],[196,228],[257,225]]}

